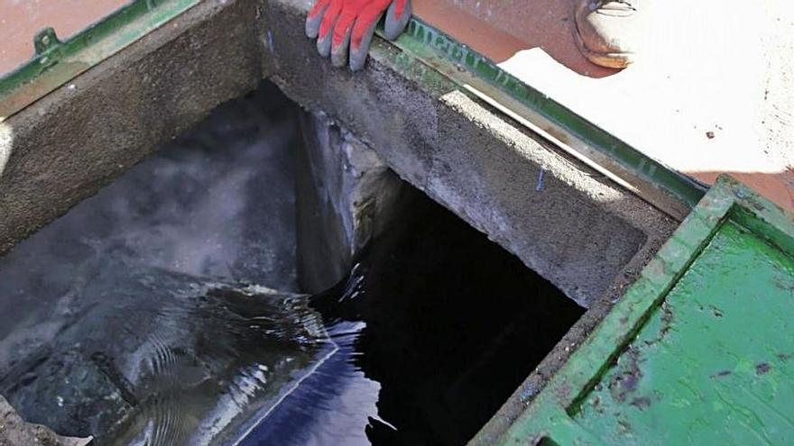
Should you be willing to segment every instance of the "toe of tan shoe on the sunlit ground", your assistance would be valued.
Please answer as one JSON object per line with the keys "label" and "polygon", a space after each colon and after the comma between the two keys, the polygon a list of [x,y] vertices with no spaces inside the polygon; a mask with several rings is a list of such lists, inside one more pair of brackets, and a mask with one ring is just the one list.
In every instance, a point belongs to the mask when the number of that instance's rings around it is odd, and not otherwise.
{"label": "toe of tan shoe on the sunlit ground", "polygon": [[646,2],[577,0],[576,38],[582,54],[602,67],[625,68],[631,64],[642,41],[645,23],[641,4]]}

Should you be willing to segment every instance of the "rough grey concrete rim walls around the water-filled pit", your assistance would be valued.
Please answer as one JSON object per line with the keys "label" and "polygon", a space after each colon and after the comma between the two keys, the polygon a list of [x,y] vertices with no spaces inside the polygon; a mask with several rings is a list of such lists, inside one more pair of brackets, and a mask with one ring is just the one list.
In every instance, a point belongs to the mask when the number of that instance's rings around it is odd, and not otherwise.
{"label": "rough grey concrete rim walls around the water-filled pit", "polygon": [[591,308],[485,438],[575,350],[676,223],[384,41],[365,71],[332,68],[303,35],[308,6],[202,2],[0,124],[0,253],[268,78]]}

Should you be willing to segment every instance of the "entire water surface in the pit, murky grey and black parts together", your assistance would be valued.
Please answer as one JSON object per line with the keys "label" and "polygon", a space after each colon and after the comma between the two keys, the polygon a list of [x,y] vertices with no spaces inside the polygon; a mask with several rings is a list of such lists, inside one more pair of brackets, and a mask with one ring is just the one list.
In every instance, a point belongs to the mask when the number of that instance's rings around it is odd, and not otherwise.
{"label": "entire water surface in the pit, murky grey and black parts together", "polygon": [[97,444],[464,444],[583,310],[419,191],[300,295],[294,110],[220,107],[0,259],[0,395]]}

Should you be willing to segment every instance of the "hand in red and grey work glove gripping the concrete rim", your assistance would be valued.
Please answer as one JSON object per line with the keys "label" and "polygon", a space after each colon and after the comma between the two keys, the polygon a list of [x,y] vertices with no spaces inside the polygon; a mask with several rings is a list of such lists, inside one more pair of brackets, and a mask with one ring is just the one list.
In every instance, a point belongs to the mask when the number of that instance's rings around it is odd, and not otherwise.
{"label": "hand in red and grey work glove gripping the concrete rim", "polygon": [[411,18],[411,0],[318,0],[306,16],[306,35],[334,67],[364,68],[375,26],[386,13],[386,38],[396,39]]}

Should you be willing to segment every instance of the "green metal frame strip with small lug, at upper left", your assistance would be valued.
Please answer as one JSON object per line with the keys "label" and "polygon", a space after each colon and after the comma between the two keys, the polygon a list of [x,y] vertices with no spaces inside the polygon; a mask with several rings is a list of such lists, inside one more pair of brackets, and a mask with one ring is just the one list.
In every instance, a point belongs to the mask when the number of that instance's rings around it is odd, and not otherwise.
{"label": "green metal frame strip with small lug, at upper left", "polygon": [[0,79],[0,122],[198,3],[133,0],[68,41],[45,28],[33,37],[32,59]]}

